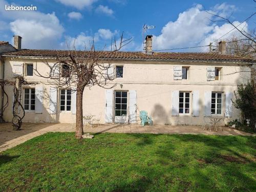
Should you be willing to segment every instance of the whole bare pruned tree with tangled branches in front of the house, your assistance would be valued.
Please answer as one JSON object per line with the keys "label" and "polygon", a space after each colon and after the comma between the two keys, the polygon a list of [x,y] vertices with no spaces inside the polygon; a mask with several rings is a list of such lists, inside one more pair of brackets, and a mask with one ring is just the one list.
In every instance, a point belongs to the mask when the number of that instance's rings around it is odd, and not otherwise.
{"label": "whole bare pruned tree with tangled branches in front of the house", "polygon": [[84,88],[95,85],[105,89],[113,88],[115,84],[109,83],[114,77],[113,72],[111,74],[109,72],[110,60],[106,63],[103,59],[111,58],[114,52],[119,51],[130,42],[131,38],[124,39],[122,33],[118,42],[115,39],[112,42],[111,51],[96,51],[94,42],[92,42],[90,50],[77,51],[73,46],[73,49],[68,51],[68,55],[63,55],[62,51],[56,51],[56,62],[43,61],[50,71],[47,75],[39,72],[37,68],[34,69],[37,76],[48,79],[47,84],[53,84],[56,88],[76,91],[75,137],[77,139],[82,138],[83,135],[82,97]]}

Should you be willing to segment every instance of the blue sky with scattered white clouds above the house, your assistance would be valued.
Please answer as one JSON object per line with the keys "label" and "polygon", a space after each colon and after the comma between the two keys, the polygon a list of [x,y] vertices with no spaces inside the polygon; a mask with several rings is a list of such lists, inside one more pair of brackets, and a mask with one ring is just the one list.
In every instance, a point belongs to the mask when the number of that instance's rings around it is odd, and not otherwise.
{"label": "blue sky with scattered white clouds above the house", "polygon": [[[8,11],[6,5],[33,5],[36,11]],[[145,34],[153,35],[153,50],[168,51],[240,35],[227,23],[213,22],[216,18],[207,12],[229,17],[245,31],[254,29],[255,16],[244,20],[255,7],[253,0],[0,0],[0,40],[12,44],[12,36],[19,35],[23,49],[63,50],[89,49],[94,41],[97,50],[110,50],[112,39],[118,41],[123,32],[132,41],[122,51],[143,51],[142,27],[146,24],[155,26]],[[206,52],[208,47],[172,51]]]}

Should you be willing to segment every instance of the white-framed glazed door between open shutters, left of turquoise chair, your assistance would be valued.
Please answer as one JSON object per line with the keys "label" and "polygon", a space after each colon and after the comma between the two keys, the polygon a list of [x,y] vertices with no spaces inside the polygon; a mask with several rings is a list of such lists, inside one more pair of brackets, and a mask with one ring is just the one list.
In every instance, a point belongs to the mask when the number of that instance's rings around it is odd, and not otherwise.
{"label": "white-framed glazed door between open shutters, left of turquoise chair", "polygon": [[127,121],[127,91],[115,91],[115,123]]}

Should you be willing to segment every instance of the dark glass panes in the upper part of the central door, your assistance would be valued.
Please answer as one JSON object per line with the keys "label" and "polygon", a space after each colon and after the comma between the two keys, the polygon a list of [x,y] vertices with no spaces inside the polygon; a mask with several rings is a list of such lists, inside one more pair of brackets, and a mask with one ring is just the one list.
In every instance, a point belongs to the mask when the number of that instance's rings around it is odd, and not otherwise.
{"label": "dark glass panes in the upper part of the central door", "polygon": [[127,91],[115,92],[115,116],[126,116],[127,114]]}

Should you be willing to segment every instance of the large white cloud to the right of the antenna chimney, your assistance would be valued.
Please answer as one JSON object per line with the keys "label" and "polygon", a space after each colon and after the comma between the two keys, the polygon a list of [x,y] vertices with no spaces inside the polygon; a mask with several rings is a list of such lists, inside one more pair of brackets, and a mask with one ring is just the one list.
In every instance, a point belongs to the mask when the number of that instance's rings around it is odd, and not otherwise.
{"label": "large white cloud to the right of the antenna chimney", "polygon": [[[222,24],[217,26],[216,23],[212,23],[210,19],[212,15],[202,10],[202,5],[196,5],[179,14],[175,22],[168,22],[161,30],[160,35],[153,37],[153,49],[172,49],[182,47],[194,47],[199,45],[209,45],[209,42],[216,40],[225,33],[227,33],[233,27],[228,24]],[[231,10],[230,10],[231,9]],[[221,14],[222,16],[227,15],[227,12],[234,10],[234,6],[226,4],[216,5],[208,12]],[[236,24],[240,24],[236,22]],[[245,24],[244,30],[247,29]],[[241,25],[241,27],[244,24]],[[225,38],[230,37],[235,33],[235,30]],[[189,49],[184,50],[186,52],[193,52],[205,49]]]}

